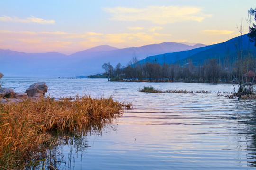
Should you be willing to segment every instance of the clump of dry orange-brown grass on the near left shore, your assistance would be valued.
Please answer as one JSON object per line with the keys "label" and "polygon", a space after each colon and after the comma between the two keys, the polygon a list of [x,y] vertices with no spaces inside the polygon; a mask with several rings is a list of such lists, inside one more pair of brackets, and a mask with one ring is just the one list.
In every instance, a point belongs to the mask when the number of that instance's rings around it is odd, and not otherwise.
{"label": "clump of dry orange-brown grass on the near left shore", "polygon": [[122,115],[123,107],[131,104],[89,96],[0,104],[0,169],[25,169],[47,147],[58,144],[52,131],[81,131],[93,121],[106,123]]}

